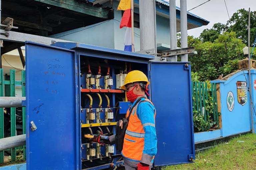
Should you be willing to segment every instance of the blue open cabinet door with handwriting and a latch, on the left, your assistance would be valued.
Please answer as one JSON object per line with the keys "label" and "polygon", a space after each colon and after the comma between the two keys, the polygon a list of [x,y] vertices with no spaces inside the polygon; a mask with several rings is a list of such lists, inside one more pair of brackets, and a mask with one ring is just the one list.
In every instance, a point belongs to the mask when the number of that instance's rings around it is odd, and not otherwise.
{"label": "blue open cabinet door with handwriting and a latch, on the left", "polygon": [[75,51],[26,42],[27,170],[79,169]]}

